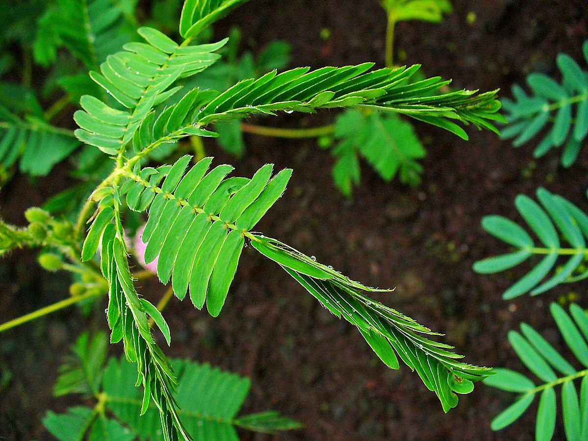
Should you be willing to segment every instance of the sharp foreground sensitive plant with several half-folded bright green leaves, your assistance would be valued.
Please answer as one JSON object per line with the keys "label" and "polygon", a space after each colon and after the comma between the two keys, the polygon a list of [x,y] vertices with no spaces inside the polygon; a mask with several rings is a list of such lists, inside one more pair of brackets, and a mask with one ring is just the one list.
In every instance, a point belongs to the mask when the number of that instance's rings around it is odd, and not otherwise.
{"label": "sharp foreground sensitive plant with several half-folded bright green leaves", "polygon": [[[150,167],[145,161],[163,145],[173,151],[175,143],[186,136],[216,136],[209,131],[212,123],[254,114],[275,115],[278,111],[310,113],[319,108],[401,113],[467,138],[458,122],[496,131],[493,121],[500,121],[496,92],[439,94],[437,89],[448,82],[438,77],[409,82],[419,66],[370,71],[372,64],[366,63],[312,72],[309,68],[280,74],[270,71],[260,78],[240,81],[224,92],[193,88],[180,93],[177,81],[213,65],[220,57],[216,51],[226,44],[225,39],[194,45],[198,33],[240,3],[243,1],[188,0],[182,8],[181,44],[156,29],[143,27],[138,32],[144,42],[129,42],[123,51],[106,56],[100,72],[90,73],[106,98],[82,96],[83,110],[74,118],[80,127],[75,131],[78,139],[111,156],[112,172],[96,186],[79,213],[75,229],[68,224],[65,236],[69,243],[48,242],[47,238],[54,237],[49,235],[54,220],[37,216],[34,223],[41,225],[35,229],[32,223],[26,230],[2,224],[8,238],[5,245],[55,245],[72,260],[74,268],[70,269],[74,272],[81,268],[83,274],[95,272],[94,267],[99,266],[108,282],[106,316],[111,342],[122,341],[126,359],[135,363],[132,383],[143,386],[139,413],[156,406],[165,440],[189,439],[191,430],[182,420],[176,397],[182,387],[178,372],[153,338],[148,318],[161,330],[168,345],[170,329],[161,312],[139,296],[133,283],[124,240],[124,225],[132,211],[148,212],[142,233],[147,243],[145,260],[158,258],[158,276],[164,283],[171,280],[178,298],[189,293],[193,305],[203,308],[206,304],[211,315],[218,315],[242,249],[250,243],[282,266],[325,308],[355,325],[386,365],[399,368],[400,356],[435,391],[445,411],[455,407],[455,393],[471,392],[472,382],[488,375],[489,369],[458,362],[460,356],[450,352],[451,346],[429,338],[436,333],[365,294],[378,289],[353,282],[278,240],[251,232],[285,191],[289,169],[272,177],[272,166],[265,165],[251,179],[226,178],[232,167],[219,165],[210,170],[212,158],[190,165],[192,158],[186,155],[160,167]],[[95,205],[80,247],[83,222]],[[65,230],[60,231],[59,238],[63,238]],[[95,259],[99,244],[100,256]],[[83,283],[80,285],[83,288]],[[103,292],[103,285],[95,289]],[[72,290],[75,296],[77,292]],[[109,423],[103,426],[108,430]]]}

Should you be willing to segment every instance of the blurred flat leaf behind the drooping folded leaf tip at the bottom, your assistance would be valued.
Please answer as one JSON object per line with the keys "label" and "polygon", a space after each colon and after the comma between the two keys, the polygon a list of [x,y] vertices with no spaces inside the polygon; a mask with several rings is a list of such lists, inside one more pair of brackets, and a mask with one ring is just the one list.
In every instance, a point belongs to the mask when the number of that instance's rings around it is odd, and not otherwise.
{"label": "blurred flat leaf behind the drooping folded leaf tip at the bottom", "polygon": [[[171,360],[171,366],[178,373],[179,386],[174,393],[179,405],[178,415],[197,441],[237,441],[235,426],[263,428],[262,431],[269,433],[300,427],[277,412],[238,417],[249,393],[248,378],[188,360]],[[133,386],[135,376],[135,366],[125,360],[111,359],[104,376],[106,405],[141,439],[158,439],[158,412],[151,406],[140,415],[142,400]]]}

